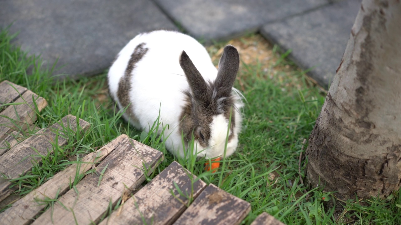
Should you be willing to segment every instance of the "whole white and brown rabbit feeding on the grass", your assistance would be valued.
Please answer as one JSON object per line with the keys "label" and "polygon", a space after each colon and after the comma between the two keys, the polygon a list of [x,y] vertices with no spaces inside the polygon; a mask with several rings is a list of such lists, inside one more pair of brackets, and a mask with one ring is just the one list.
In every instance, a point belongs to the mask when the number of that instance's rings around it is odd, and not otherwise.
{"label": "whole white and brown rabbit feeding on the grass", "polygon": [[244,99],[233,88],[238,69],[234,46],[225,46],[217,70],[194,38],[156,30],[133,38],[117,54],[107,79],[117,106],[128,106],[123,118],[131,125],[149,132],[160,116],[158,135],[164,126],[168,151],[188,157],[193,143],[193,155],[213,159],[237,149]]}

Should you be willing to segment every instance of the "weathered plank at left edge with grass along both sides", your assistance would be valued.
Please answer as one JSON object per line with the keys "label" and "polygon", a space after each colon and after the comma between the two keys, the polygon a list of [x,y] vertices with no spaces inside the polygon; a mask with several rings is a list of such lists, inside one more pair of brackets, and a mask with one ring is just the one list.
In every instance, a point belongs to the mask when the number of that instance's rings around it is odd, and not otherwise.
{"label": "weathered plank at left edge with grass along both sides", "polygon": [[[89,123],[79,119],[79,127],[85,130],[89,128]],[[41,161],[41,157],[38,157],[39,154],[47,155],[53,152],[56,133],[58,134],[57,145],[61,146],[67,143],[64,132],[68,130],[77,130],[77,118],[72,115],[64,117],[48,129],[41,129],[0,156],[0,173],[10,179],[26,173],[32,169],[32,160]],[[8,179],[0,177],[0,201],[12,192],[9,189],[10,185]]]}

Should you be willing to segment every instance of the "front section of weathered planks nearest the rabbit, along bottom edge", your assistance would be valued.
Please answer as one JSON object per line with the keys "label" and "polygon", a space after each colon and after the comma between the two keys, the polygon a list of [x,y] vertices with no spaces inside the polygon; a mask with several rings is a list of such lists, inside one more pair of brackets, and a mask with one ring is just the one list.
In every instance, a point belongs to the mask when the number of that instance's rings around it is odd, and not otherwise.
{"label": "front section of weathered planks nearest the rabbit, along bottom edge", "polygon": [[[4,224],[240,224],[250,204],[176,162],[141,188],[163,154],[121,135],[0,213]],[[100,162],[100,163],[99,163]],[[99,163],[99,164],[98,164]],[[87,174],[71,188],[71,183]],[[44,201],[54,205],[41,213]],[[115,209],[116,205],[121,205]],[[33,218],[36,219],[34,220]],[[267,214],[253,225],[282,223]]]}

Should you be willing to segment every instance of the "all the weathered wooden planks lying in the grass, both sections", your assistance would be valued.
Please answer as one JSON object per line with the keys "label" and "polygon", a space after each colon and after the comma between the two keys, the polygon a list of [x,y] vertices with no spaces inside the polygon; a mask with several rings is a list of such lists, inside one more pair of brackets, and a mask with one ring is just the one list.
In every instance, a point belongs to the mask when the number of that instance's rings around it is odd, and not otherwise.
{"label": "all the weathered wooden planks lying in the grass, both sections", "polygon": [[[0,83],[0,88],[4,83]],[[4,103],[17,102],[28,91],[19,86],[17,88],[9,89],[6,97],[0,94],[2,105],[7,106],[1,113],[8,107],[24,106]],[[20,97],[12,95],[13,90],[18,90]],[[32,99],[33,96],[37,100],[36,105],[40,104],[42,108],[46,106],[43,98],[32,92],[28,93],[31,94],[30,97],[24,98]],[[14,111],[22,112],[19,109]],[[18,177],[32,169],[31,160],[41,159],[34,155],[51,153],[51,143],[56,135],[58,145],[67,143],[67,139],[63,138],[63,129],[89,127],[89,123],[83,120],[79,120],[77,125],[76,117],[69,115],[48,129],[41,129],[36,135],[18,141],[13,133],[18,131],[16,128],[28,129],[29,124],[36,119],[36,114],[28,112],[24,115],[13,117],[16,118],[13,123],[6,126],[0,125],[0,129],[8,129],[3,134],[2,143],[6,143],[6,147],[0,155],[0,173],[9,178]],[[10,124],[16,126],[12,127]],[[249,203],[215,185],[206,185],[176,162],[142,187],[146,175],[154,171],[162,160],[161,152],[121,135],[14,202],[12,207],[0,213],[0,223],[235,225],[240,224],[249,213]],[[8,179],[0,178],[0,201],[13,191],[9,188],[10,185]],[[47,205],[43,204],[45,202],[52,202],[47,210]],[[266,213],[252,223],[258,224],[282,225]]]}

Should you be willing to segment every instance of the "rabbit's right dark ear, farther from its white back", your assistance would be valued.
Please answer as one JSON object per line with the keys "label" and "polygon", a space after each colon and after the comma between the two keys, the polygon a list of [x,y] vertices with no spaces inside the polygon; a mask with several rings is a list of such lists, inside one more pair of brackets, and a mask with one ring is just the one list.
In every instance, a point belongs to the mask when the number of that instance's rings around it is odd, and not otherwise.
{"label": "rabbit's right dark ear, farther from its white back", "polygon": [[229,96],[231,94],[238,68],[239,54],[237,49],[232,45],[225,46],[219,61],[219,70],[215,81],[219,95]]}

